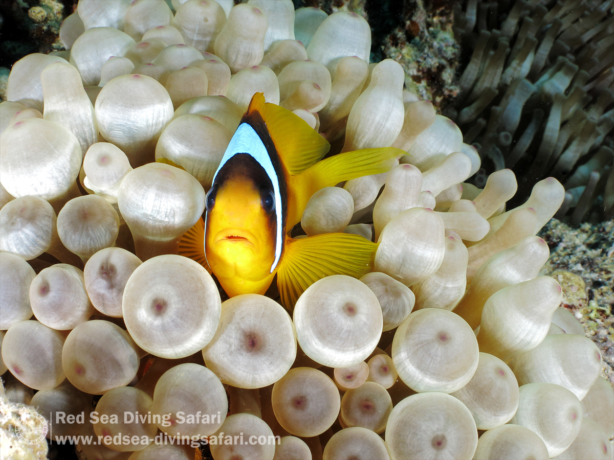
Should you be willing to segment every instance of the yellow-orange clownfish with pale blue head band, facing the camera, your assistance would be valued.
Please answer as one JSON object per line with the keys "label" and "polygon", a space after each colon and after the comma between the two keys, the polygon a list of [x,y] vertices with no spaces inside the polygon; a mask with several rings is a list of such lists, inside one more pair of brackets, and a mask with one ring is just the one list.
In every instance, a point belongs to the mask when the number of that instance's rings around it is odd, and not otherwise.
{"label": "yellow-orange clownfish with pale blue head band, facing the camera", "polygon": [[377,244],[361,236],[289,234],[316,191],[387,172],[405,152],[369,148],[322,159],[329,149],[300,117],[254,94],[206,194],[204,221],[184,234],[179,254],[216,275],[230,297],[264,294],[277,275],[286,307],[320,278],[371,272]]}

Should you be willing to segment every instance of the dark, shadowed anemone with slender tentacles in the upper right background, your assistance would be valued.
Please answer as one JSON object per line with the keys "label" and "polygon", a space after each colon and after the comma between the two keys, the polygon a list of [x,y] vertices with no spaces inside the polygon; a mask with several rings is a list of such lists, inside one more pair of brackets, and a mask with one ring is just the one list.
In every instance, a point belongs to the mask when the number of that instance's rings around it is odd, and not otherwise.
{"label": "dark, shadowed anemone with slender tentacles in the upper right background", "polygon": [[473,183],[482,186],[505,167],[526,190],[552,175],[565,186],[559,219],[611,219],[614,6],[509,3],[468,0],[456,7],[455,34],[473,51],[448,114],[487,159]]}

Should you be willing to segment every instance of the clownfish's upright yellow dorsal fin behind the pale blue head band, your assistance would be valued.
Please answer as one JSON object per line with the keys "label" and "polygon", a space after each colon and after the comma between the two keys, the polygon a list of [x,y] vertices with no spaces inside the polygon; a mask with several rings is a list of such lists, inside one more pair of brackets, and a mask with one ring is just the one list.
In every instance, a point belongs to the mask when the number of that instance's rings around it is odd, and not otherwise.
{"label": "clownfish's upright yellow dorsal fin behind the pale blue head band", "polygon": [[330,149],[327,140],[311,129],[305,120],[279,105],[265,103],[262,93],[252,97],[247,113],[252,110],[262,115],[279,158],[290,174],[305,171]]}

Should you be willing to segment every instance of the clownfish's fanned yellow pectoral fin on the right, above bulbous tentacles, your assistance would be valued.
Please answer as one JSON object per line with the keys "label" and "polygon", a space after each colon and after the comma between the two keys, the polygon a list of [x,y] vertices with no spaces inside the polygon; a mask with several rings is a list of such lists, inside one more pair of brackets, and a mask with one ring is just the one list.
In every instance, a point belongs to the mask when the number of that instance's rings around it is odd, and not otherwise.
{"label": "clownfish's fanned yellow pectoral fin on the right, above bulbous tentacles", "polygon": [[305,289],[321,278],[331,275],[360,278],[370,273],[377,248],[376,243],[347,233],[286,239],[277,272],[282,305],[292,310]]}

